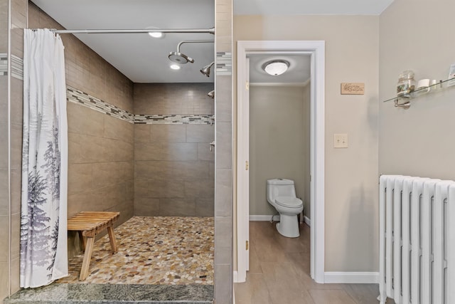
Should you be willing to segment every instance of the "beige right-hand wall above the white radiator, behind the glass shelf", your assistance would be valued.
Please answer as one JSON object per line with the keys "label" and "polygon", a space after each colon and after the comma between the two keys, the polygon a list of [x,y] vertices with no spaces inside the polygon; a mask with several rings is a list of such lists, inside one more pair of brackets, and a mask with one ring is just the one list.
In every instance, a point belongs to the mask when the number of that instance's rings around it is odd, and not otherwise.
{"label": "beige right-hand wall above the white radiator, behind the glass shelf", "polygon": [[380,16],[380,174],[455,179],[455,87],[416,98],[409,110],[381,102],[395,95],[402,70],[416,80],[447,79],[454,11],[455,1],[395,0]]}

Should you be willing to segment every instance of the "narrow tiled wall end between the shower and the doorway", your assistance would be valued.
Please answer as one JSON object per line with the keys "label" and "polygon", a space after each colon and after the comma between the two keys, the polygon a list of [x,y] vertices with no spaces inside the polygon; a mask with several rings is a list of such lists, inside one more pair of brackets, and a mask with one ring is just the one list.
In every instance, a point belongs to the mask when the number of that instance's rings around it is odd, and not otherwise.
{"label": "narrow tiled wall end between the shower and the doorway", "polygon": [[215,302],[232,303],[232,0],[215,0]]}

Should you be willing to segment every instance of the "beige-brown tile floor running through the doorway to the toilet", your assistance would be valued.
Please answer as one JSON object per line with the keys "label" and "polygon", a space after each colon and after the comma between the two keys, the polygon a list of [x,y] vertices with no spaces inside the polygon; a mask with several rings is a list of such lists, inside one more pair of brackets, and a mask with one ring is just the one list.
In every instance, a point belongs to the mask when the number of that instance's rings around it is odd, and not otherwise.
{"label": "beige-brown tile floor running through the doorway to the toilet", "polygon": [[[250,271],[235,283],[236,304],[377,304],[377,284],[318,284],[310,277],[310,229],[296,239],[269,221],[250,222]],[[393,301],[387,301],[392,304]]]}

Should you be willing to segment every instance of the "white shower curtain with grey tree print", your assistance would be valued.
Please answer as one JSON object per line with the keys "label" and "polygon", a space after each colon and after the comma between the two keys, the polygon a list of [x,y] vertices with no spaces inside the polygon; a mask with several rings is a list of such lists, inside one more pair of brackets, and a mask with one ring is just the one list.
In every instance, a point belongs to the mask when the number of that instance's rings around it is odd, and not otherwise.
{"label": "white shower curtain with grey tree print", "polygon": [[68,276],[68,125],[60,36],[23,32],[21,287]]}

